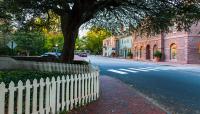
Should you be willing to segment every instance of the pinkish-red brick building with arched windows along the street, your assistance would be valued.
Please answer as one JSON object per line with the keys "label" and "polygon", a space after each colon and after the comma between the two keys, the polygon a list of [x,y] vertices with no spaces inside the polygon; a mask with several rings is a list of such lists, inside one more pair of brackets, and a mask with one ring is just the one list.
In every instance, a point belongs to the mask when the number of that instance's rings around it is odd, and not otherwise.
{"label": "pinkish-red brick building with arched windows along the street", "polygon": [[169,33],[145,37],[133,33],[133,59],[154,60],[154,52],[164,55],[162,61],[177,63],[200,63],[200,25],[193,25],[190,32],[175,29]]}

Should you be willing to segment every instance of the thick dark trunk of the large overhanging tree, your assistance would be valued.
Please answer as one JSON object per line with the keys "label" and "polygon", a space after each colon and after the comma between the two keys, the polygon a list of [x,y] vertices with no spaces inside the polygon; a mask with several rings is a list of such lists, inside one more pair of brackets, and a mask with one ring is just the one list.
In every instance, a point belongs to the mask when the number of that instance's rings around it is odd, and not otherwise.
{"label": "thick dark trunk of the large overhanging tree", "polygon": [[74,60],[75,41],[78,36],[79,24],[68,15],[63,15],[61,16],[61,29],[64,36],[62,61],[70,63]]}

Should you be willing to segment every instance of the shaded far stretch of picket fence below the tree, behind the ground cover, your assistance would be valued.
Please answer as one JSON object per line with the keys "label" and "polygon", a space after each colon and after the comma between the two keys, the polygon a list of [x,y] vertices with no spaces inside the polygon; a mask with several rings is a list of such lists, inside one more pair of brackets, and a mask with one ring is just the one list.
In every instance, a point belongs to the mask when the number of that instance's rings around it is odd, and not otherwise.
{"label": "shaded far stretch of picket fence below the tree, behind the ground cover", "polygon": [[[18,69],[40,70],[48,72],[61,72],[70,74],[89,73],[94,70],[92,65],[64,64],[52,62],[18,61]],[[96,69],[98,70],[98,69]]]}

